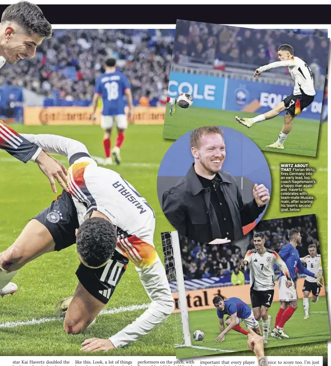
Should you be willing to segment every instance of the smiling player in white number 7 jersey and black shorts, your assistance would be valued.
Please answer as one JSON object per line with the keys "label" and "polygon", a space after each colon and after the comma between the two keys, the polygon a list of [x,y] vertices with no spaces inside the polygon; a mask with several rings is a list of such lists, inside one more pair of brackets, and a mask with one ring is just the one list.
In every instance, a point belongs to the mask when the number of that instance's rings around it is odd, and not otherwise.
{"label": "smiling player in white number 7 jersey and black shorts", "polygon": [[248,250],[245,258],[241,260],[240,270],[245,271],[249,265],[250,300],[256,320],[262,318],[263,339],[268,343],[270,332],[269,307],[274,297],[274,264],[287,276],[287,286],[292,286],[292,281],[284,261],[278,254],[264,247],[264,233],[253,235],[255,249]]}

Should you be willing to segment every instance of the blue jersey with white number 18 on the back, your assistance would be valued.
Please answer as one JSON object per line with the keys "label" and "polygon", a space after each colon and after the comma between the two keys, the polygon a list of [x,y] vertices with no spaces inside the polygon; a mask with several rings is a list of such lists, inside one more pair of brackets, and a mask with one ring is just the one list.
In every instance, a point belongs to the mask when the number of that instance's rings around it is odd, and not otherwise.
{"label": "blue jersey with white number 18 on the back", "polygon": [[130,89],[130,83],[121,71],[104,73],[96,80],[94,92],[103,98],[104,116],[125,114],[124,90]]}

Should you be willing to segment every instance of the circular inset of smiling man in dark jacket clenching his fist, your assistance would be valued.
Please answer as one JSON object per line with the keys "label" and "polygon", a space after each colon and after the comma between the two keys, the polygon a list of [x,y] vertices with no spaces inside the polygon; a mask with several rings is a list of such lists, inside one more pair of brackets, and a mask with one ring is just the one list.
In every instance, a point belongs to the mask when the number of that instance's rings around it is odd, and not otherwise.
{"label": "circular inset of smiling man in dark jacket clenching his fist", "polygon": [[176,140],[158,172],[163,213],[200,243],[237,241],[262,218],[271,175],[261,150],[231,128],[205,126]]}

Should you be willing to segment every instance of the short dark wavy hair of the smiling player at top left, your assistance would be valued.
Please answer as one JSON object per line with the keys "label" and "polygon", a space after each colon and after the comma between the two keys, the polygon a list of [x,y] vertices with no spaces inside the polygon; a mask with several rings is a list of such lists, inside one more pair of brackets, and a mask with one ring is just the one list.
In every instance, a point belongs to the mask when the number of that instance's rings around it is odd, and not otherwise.
{"label": "short dark wavy hair of the smiling player at top left", "polygon": [[46,20],[39,6],[28,1],[19,1],[9,5],[2,13],[1,23],[11,21],[21,26],[26,34],[38,34],[50,38],[52,26]]}

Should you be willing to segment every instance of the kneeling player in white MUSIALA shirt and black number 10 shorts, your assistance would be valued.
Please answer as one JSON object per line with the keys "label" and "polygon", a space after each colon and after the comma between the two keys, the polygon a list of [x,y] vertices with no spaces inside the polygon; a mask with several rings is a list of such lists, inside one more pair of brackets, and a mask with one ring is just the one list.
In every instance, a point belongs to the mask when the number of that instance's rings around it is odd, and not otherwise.
{"label": "kneeling player in white MUSIALA shirt and black number 10 shorts", "polygon": [[[14,244],[0,254],[0,289],[17,270],[42,254],[77,244],[81,264],[64,329],[86,330],[108,303],[132,262],[151,304],[132,324],[109,339],[93,338],[83,351],[111,350],[138,340],[174,309],[165,269],[153,243],[155,215],[146,200],[118,173],[98,167],[82,143],[55,135],[23,135],[44,151],[68,157],[69,192],[36,215]],[[76,240],[77,236],[77,240]]]}

